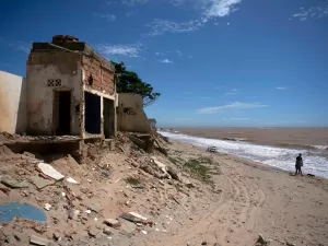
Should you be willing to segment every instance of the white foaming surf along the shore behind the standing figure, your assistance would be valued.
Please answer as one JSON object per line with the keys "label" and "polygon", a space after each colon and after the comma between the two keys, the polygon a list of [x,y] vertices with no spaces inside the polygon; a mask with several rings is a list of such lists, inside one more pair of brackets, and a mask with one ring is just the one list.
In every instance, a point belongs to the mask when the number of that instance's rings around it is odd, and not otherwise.
{"label": "white foaming surf along the shore behind the standing figure", "polygon": [[328,178],[328,145],[314,145],[311,150],[280,148],[255,144],[245,141],[231,141],[211,138],[194,137],[178,131],[159,131],[169,139],[190,143],[202,149],[216,147],[221,153],[245,157],[284,171],[295,171],[295,159],[302,153],[304,166],[303,174],[314,174]]}

